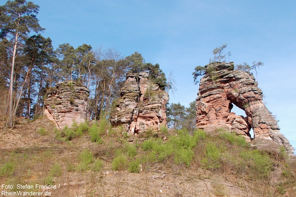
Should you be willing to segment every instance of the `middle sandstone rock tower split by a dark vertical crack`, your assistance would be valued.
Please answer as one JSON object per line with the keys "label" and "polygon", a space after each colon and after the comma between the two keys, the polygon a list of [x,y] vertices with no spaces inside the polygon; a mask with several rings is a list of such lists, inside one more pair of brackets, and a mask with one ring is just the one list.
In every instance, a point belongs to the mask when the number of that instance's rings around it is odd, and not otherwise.
{"label": "middle sandstone rock tower split by a dark vertical crack", "polygon": [[168,93],[157,83],[149,83],[148,72],[128,73],[120,89],[116,111],[111,116],[113,126],[123,125],[129,135],[159,129],[166,125],[165,104]]}

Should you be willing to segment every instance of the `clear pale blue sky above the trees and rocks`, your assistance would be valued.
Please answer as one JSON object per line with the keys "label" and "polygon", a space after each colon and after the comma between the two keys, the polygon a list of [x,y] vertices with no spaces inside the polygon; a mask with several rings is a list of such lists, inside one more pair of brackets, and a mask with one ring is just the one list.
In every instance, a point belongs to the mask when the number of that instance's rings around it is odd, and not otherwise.
{"label": "clear pale blue sky above the trees and rocks", "polygon": [[167,75],[173,71],[177,91],[170,102],[185,106],[197,97],[194,67],[207,64],[213,48],[227,43],[235,64],[262,61],[258,81],[266,106],[296,147],[295,0],[33,2],[54,48],[86,43],[116,48],[123,56],[138,51]]}

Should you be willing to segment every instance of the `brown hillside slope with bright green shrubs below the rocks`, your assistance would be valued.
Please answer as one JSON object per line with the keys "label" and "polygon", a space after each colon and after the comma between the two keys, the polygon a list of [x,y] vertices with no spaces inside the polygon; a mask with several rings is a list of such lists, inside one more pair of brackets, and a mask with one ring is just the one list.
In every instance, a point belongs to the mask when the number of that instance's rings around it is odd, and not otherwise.
{"label": "brown hillside slope with bright green shrubs below the rocks", "polygon": [[5,135],[20,129],[31,144],[1,144],[5,185],[57,185],[34,189],[52,196],[295,196],[295,161],[284,150],[258,151],[223,130],[207,136],[163,127],[131,137],[102,119],[63,130],[20,123]]}

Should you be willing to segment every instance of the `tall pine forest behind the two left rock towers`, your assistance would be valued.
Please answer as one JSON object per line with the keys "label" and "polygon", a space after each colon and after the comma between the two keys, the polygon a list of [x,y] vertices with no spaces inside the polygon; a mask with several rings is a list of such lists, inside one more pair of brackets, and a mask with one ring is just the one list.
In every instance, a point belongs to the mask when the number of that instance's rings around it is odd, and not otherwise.
{"label": "tall pine forest behind the two left rock towers", "polygon": [[115,48],[74,48],[62,43],[54,49],[44,38],[37,19],[39,6],[25,0],[0,6],[1,114],[36,119],[43,115],[46,91],[56,82],[73,80],[91,90],[91,118],[106,115],[127,72],[148,71],[150,80],[169,89],[159,64],[146,63],[138,52],[122,56]]}

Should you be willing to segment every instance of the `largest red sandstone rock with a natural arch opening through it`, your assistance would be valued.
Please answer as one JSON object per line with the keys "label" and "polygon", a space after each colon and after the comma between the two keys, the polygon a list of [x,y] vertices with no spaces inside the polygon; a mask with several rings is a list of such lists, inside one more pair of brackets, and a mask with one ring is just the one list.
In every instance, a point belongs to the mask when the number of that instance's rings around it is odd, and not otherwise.
{"label": "largest red sandstone rock with a natural arch opening through it", "polygon": [[[284,146],[293,154],[292,145],[279,132],[277,121],[263,104],[255,77],[246,71],[233,70],[233,62],[221,64],[212,75],[207,73],[200,80],[196,99],[197,127],[206,132],[225,128],[252,140],[258,148],[278,150]],[[244,110],[247,117],[231,113],[232,104]],[[254,139],[250,137],[250,128],[254,130]]]}

